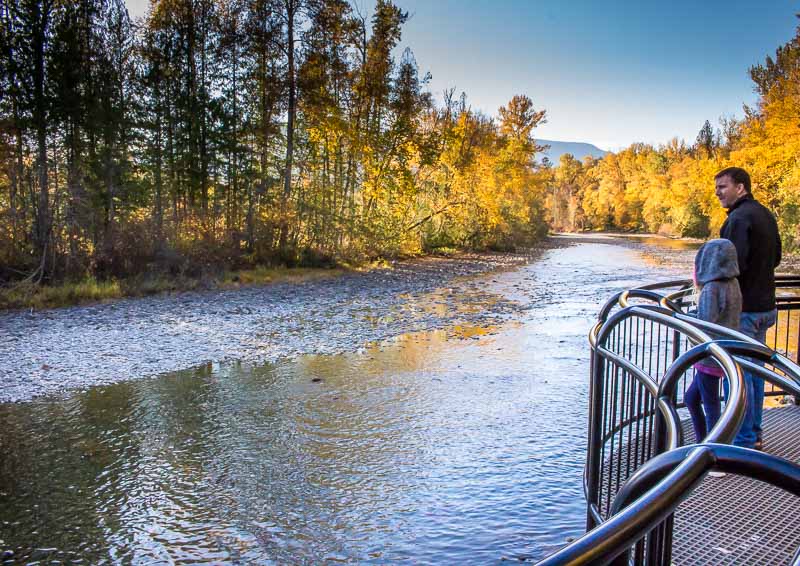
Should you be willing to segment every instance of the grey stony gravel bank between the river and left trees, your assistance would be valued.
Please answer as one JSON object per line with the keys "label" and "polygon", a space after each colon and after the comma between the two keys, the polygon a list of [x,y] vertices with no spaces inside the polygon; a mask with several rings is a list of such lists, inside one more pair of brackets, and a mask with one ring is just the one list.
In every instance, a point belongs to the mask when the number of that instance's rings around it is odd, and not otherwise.
{"label": "grey stony gravel bank between the river and left trees", "polygon": [[[550,239],[542,248],[566,244]],[[526,307],[472,276],[540,252],[429,257],[300,284],[2,313],[0,402],[207,362],[334,354],[408,332],[491,324]]]}

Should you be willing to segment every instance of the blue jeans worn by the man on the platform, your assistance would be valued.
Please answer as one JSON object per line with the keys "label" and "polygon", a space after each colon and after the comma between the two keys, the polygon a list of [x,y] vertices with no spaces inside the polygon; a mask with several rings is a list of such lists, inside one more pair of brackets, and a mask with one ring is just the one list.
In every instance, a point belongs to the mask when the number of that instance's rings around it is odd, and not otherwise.
{"label": "blue jeans worn by the man on the platform", "polygon": [[[743,312],[739,318],[739,332],[755,338],[762,344],[767,341],[767,330],[778,319],[778,311]],[[761,437],[761,418],[764,413],[764,380],[750,373],[744,372],[744,382],[747,394],[747,409],[744,421],[733,443],[737,446],[752,448],[756,439]],[[728,397],[727,380],[725,381],[725,398]]]}

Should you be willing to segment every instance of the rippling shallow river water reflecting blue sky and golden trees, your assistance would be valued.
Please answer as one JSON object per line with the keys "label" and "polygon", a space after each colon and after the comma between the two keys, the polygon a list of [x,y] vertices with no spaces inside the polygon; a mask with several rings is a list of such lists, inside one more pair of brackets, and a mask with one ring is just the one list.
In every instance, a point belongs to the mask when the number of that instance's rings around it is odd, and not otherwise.
{"label": "rippling shallow river water reflecting blue sky and golden trees", "polygon": [[[595,313],[617,290],[687,276],[693,253],[661,241],[563,244],[470,278],[486,301],[522,307],[493,325],[0,404],[3,558],[545,556],[583,532]],[[452,308],[438,296],[431,309]]]}

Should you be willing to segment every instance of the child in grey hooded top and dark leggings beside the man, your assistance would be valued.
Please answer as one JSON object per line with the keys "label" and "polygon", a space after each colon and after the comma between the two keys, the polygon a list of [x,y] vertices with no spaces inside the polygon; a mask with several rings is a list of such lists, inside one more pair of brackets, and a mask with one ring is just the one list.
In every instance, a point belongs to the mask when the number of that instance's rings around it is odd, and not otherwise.
{"label": "child in grey hooded top and dark leggings beside the man", "polygon": [[[737,275],[736,248],[729,240],[709,240],[698,250],[694,258],[694,284],[700,293],[697,318],[739,329],[742,293]],[[719,380],[725,374],[708,358],[696,363],[694,368],[694,380],[686,390],[684,401],[692,417],[696,442],[701,442],[719,420]]]}

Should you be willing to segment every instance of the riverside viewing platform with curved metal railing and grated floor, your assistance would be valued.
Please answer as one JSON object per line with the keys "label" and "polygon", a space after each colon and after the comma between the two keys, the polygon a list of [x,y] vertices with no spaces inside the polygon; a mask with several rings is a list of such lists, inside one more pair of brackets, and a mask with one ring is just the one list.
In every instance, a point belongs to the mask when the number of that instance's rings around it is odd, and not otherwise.
{"label": "riverside viewing platform with curved metal railing and grated floor", "polygon": [[[800,278],[760,344],[687,315],[691,285],[618,293],[590,332],[587,533],[541,564],[800,566]],[[705,439],[683,396],[712,358],[729,395]],[[763,451],[733,446],[744,372],[765,382]],[[723,474],[709,474],[723,472]]]}

